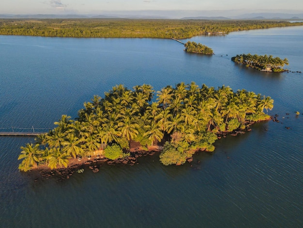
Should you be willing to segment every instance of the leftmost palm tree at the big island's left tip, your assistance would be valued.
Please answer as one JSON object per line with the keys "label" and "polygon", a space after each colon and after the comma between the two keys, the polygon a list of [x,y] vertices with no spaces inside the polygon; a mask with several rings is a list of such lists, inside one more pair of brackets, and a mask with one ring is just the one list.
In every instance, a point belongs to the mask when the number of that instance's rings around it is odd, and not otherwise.
{"label": "leftmost palm tree at the big island's left tip", "polygon": [[32,145],[31,143],[28,143],[25,147],[20,148],[22,151],[18,160],[23,159],[22,165],[19,166],[20,170],[27,171],[30,170],[32,166],[37,166],[42,154],[39,144]]}

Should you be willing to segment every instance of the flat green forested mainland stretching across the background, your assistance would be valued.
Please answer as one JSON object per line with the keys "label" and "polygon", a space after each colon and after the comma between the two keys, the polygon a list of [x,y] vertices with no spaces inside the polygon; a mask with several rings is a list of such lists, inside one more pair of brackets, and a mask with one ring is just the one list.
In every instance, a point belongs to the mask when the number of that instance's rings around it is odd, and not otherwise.
{"label": "flat green forested mainland stretching across the background", "polygon": [[273,20],[0,19],[1,35],[190,38],[206,33],[303,25]]}

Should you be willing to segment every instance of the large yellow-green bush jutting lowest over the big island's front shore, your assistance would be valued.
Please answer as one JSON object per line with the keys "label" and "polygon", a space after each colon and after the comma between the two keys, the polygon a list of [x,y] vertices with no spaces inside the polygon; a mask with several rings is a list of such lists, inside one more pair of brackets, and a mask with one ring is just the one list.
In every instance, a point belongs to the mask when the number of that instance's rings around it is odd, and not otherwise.
{"label": "large yellow-green bush jutting lowest over the big island's front shore", "polygon": [[184,164],[186,162],[186,154],[166,142],[160,154],[160,162],[164,165]]}

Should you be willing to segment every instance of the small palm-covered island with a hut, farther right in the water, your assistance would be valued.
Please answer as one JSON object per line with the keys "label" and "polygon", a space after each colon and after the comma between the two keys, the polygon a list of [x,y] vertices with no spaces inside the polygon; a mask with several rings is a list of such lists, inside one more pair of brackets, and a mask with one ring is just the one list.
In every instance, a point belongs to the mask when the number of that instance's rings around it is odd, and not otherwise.
{"label": "small palm-covered island with a hut, farther right in the water", "polygon": [[252,67],[260,71],[266,72],[284,72],[288,71],[283,69],[284,65],[288,65],[288,59],[280,59],[272,55],[252,55],[241,54],[231,58],[231,60],[237,64],[244,64],[247,67]]}

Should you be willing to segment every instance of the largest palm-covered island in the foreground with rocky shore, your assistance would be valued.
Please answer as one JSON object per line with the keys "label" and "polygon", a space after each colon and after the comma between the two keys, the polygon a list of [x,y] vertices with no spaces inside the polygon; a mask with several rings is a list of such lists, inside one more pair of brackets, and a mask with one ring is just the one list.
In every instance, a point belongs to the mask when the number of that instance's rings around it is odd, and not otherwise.
{"label": "largest palm-covered island in the foreground with rocky shore", "polygon": [[[225,85],[181,82],[157,91],[156,99],[154,92],[148,84],[133,90],[120,84],[104,98],[94,96],[76,119],[62,115],[57,127],[21,147],[19,170],[83,172],[81,165],[93,161],[134,165],[152,151],[160,152],[161,163],[180,165],[199,150],[212,152],[213,143],[227,133],[243,133],[252,123],[270,119],[263,110],[273,108],[270,97]],[[90,168],[98,171],[96,165]]]}

